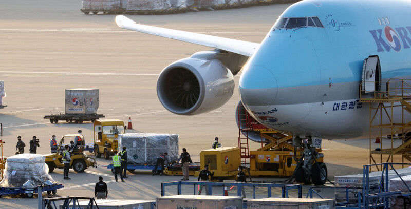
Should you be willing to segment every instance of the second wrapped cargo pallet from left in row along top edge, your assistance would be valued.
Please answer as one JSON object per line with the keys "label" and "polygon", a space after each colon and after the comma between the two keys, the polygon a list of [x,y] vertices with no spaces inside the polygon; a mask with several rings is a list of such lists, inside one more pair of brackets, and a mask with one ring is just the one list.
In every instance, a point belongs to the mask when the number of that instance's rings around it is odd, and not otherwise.
{"label": "second wrapped cargo pallet from left in row along top edge", "polygon": [[170,0],[126,0],[126,10],[151,11],[170,8]]}

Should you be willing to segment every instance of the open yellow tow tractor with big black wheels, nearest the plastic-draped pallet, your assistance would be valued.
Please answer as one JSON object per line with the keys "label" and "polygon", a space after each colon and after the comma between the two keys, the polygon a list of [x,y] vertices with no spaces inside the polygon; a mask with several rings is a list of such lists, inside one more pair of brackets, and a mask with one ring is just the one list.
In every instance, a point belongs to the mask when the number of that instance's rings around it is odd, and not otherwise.
{"label": "open yellow tow tractor with big black wheels, nearest the plastic-draped pallet", "polygon": [[76,136],[80,137],[80,139],[82,140],[82,145],[79,145],[78,150],[74,150],[73,152],[70,153],[70,158],[71,158],[70,168],[73,168],[73,170],[76,171],[77,173],[81,173],[81,172],[84,172],[84,170],[86,170],[89,166],[92,166],[92,167],[97,166],[96,160],[94,158],[88,157],[84,153],[85,142],[84,142],[83,135],[68,134],[68,135],[64,135],[60,139],[59,147],[57,149],[59,151],[58,153],[45,155],[46,164],[48,165],[49,173],[52,173],[55,168],[64,169],[64,164],[62,161],[64,147],[62,147],[62,144],[64,144],[64,139],[66,139],[66,141],[68,142],[68,141],[74,140]]}

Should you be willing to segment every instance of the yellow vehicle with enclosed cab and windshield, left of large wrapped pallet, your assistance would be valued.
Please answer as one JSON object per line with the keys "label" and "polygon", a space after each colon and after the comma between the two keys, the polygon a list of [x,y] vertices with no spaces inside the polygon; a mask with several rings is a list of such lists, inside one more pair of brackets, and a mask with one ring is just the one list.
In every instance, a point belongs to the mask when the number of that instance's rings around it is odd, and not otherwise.
{"label": "yellow vehicle with enclosed cab and windshield, left of large wrapped pallet", "polygon": [[118,119],[94,121],[94,155],[108,160],[118,150],[118,135],[124,134],[124,122]]}

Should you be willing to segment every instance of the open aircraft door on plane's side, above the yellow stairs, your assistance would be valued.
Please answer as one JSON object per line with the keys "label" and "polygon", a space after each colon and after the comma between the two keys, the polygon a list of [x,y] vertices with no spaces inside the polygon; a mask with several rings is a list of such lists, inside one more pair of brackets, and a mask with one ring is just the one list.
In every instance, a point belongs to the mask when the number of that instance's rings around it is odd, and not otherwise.
{"label": "open aircraft door on plane's side, above the yellow stairs", "polygon": [[361,90],[365,93],[381,91],[381,67],[378,56],[364,59]]}

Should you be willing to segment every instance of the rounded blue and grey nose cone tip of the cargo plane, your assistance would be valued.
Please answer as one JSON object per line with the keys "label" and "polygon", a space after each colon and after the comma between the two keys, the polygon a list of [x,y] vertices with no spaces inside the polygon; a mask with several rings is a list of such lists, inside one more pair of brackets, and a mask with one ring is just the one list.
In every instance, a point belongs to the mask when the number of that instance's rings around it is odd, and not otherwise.
{"label": "rounded blue and grey nose cone tip of the cargo plane", "polygon": [[239,92],[244,106],[263,110],[273,105],[277,97],[277,80],[264,66],[249,66],[241,74]]}

